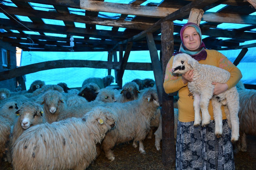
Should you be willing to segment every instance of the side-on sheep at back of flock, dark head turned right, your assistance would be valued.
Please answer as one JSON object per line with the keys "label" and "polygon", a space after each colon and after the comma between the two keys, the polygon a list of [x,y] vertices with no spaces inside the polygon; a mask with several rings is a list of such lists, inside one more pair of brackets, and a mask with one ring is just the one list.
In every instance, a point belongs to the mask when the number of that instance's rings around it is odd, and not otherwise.
{"label": "side-on sheep at back of flock, dark head turned right", "polygon": [[82,87],[88,83],[95,83],[99,86],[100,89],[103,89],[103,88],[109,86],[111,83],[113,83],[114,79],[115,78],[111,75],[108,75],[103,78],[91,77],[91,78],[87,78],[83,81]]}

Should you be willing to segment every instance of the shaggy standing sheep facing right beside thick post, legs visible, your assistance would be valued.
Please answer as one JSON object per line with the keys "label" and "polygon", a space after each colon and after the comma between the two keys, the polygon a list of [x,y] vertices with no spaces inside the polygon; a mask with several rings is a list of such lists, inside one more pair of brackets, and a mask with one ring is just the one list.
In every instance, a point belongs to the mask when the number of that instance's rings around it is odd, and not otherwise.
{"label": "shaggy standing sheep facing right beside thick post, legs visible", "polygon": [[139,151],[146,154],[143,146],[143,140],[150,129],[150,120],[154,115],[156,108],[159,106],[158,97],[155,89],[148,89],[138,99],[126,103],[111,103],[104,107],[116,111],[118,124],[116,128],[109,131],[101,147],[106,157],[113,161],[115,156],[111,148],[115,144],[128,142],[134,139],[133,146],[137,147],[136,142],[139,141]]}

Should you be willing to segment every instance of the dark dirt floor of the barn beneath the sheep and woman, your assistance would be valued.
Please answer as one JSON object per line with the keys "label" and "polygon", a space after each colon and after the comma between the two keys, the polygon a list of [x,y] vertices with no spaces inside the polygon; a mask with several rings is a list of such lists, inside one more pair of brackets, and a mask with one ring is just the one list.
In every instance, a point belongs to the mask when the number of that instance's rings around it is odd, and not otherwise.
{"label": "dark dirt floor of the barn beneath the sheep and woman", "polygon": [[[256,167],[256,137],[247,137],[247,152],[239,152],[234,155],[236,169],[250,170]],[[162,151],[157,152],[155,148],[155,138],[145,139],[144,147],[147,155],[142,155],[138,148],[132,147],[131,143],[120,144],[114,148],[115,160],[110,162],[106,159],[105,154],[97,158],[97,160],[87,169],[90,170],[113,170],[113,169],[175,169],[175,167],[165,167],[162,164]],[[11,170],[11,164],[7,162],[0,166],[0,169]]]}

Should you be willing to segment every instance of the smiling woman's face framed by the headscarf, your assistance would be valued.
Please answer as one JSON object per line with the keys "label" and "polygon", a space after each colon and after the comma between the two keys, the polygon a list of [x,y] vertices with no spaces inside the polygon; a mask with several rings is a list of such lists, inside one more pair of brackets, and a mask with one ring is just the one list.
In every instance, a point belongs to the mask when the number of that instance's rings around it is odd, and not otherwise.
{"label": "smiling woman's face framed by the headscarf", "polygon": [[199,48],[201,40],[194,27],[187,27],[184,30],[183,43],[185,47],[190,51],[195,51]]}

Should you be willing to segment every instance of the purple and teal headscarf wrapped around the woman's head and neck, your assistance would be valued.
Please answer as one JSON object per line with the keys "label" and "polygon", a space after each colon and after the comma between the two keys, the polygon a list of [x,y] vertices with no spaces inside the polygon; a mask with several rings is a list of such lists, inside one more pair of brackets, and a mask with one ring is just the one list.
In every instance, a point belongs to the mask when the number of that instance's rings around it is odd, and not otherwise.
{"label": "purple and teal headscarf wrapped around the woman's head and neck", "polygon": [[[184,45],[183,32],[187,27],[194,27],[196,29],[196,32],[200,35],[201,42],[200,42],[199,48],[196,51],[190,51]],[[200,27],[197,24],[195,24],[193,22],[186,23],[180,30],[180,38],[181,38],[181,41],[182,41],[180,51],[176,52],[176,53],[173,53],[173,55],[176,55],[176,54],[179,54],[179,53],[186,53],[186,54],[189,54],[192,58],[194,58],[197,61],[206,59],[206,57],[207,57],[207,52],[205,51],[206,47],[205,47],[204,42],[202,42],[202,33],[201,33],[201,30],[200,30]]]}

